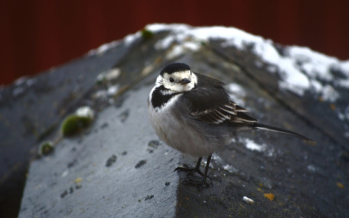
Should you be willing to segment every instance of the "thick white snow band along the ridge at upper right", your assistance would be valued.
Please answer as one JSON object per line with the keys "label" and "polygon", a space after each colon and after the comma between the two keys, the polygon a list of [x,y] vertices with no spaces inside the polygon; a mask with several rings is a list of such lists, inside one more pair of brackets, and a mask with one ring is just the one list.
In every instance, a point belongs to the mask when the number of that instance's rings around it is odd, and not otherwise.
{"label": "thick white snow band along the ridge at upper right", "polygon": [[[253,36],[240,29],[224,26],[192,27],[186,24],[150,24],[146,26],[149,31],[170,31],[168,37],[156,43],[156,49],[169,49],[172,52],[168,56],[173,59],[186,52],[197,51],[202,42],[209,39],[223,39],[223,46],[234,46],[238,49],[252,47],[253,52],[261,57],[273,69],[271,72],[279,72],[281,81],[279,87],[285,88],[297,95],[304,95],[306,91],[318,93],[319,97],[328,102],[335,102],[340,96],[335,88],[331,88],[329,82],[338,86],[349,88],[349,61],[338,59],[307,47],[286,47],[285,54],[280,54],[274,47],[272,40],[266,40],[260,36]],[[188,46],[191,43],[191,46]],[[256,63],[257,65],[258,63]],[[344,73],[346,78],[334,77],[331,70],[337,68]]]}

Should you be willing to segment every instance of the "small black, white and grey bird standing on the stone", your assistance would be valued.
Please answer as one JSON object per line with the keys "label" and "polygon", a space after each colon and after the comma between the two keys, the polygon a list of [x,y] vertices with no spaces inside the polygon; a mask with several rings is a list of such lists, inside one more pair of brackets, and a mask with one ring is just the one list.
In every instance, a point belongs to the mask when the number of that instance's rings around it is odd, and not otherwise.
{"label": "small black, white and grey bird standing on the stone", "polygon": [[[238,132],[268,130],[312,141],[302,134],[258,123],[244,107],[230,100],[223,81],[193,72],[186,63],[170,63],[161,70],[147,107],[151,126],[161,141],[198,157],[195,168],[175,169],[200,174],[200,180],[187,181],[194,185],[213,185],[207,181],[211,156],[232,143]],[[207,157],[204,173],[200,171],[202,157]]]}

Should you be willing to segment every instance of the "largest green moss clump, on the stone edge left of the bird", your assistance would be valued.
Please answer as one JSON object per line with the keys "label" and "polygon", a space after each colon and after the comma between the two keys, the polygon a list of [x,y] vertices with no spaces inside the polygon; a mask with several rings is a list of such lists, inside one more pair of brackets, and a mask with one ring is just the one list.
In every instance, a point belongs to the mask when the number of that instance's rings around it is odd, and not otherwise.
{"label": "largest green moss clump, on the stone edge left of the bird", "polygon": [[87,116],[78,116],[76,114],[67,116],[61,125],[62,134],[67,137],[80,132],[92,123],[93,118]]}

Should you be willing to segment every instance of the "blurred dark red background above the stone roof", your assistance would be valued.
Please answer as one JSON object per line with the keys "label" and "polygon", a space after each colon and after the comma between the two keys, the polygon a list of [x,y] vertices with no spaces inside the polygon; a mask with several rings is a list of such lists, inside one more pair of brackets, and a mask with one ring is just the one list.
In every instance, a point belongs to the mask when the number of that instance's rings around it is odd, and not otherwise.
{"label": "blurred dark red background above the stone roof", "polygon": [[82,56],[146,24],[235,26],[349,59],[349,1],[0,0],[0,85]]}

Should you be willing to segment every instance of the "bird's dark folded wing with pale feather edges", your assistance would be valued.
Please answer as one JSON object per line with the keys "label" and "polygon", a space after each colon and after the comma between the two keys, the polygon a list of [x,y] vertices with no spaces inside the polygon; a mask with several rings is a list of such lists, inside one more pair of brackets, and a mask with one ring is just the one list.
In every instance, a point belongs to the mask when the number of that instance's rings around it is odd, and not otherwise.
{"label": "bird's dark folded wing with pale feather edges", "polygon": [[195,88],[185,93],[191,117],[205,123],[256,123],[246,109],[232,102],[223,86]]}

